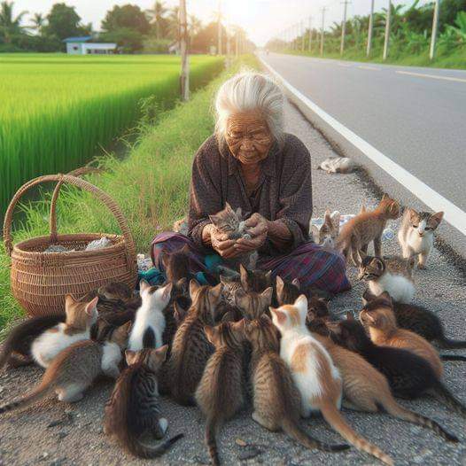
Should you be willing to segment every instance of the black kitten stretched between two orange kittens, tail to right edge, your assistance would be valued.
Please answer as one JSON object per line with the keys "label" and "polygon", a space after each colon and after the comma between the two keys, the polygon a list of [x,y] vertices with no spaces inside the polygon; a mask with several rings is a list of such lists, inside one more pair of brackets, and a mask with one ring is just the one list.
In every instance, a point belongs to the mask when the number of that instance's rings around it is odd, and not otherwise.
{"label": "black kitten stretched between two orange kittens, tail to right edge", "polygon": [[366,361],[382,372],[395,396],[413,400],[429,392],[448,408],[466,416],[466,407],[439,381],[429,362],[405,349],[377,346],[370,340],[362,324],[353,319],[351,313],[348,313],[346,321],[332,322],[330,325],[332,340],[350,351],[361,354]]}

